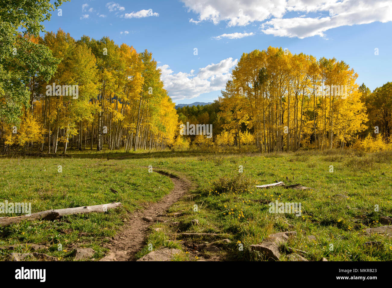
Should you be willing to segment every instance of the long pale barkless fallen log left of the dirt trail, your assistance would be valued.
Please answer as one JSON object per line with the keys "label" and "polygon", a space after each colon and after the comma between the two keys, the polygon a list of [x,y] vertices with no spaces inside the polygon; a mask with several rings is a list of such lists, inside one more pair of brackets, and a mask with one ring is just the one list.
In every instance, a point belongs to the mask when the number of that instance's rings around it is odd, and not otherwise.
{"label": "long pale barkless fallen log left of the dirt trail", "polygon": [[33,213],[30,215],[22,215],[22,216],[7,217],[7,218],[0,219],[0,226],[8,226],[15,223],[19,223],[24,220],[53,220],[64,215],[83,214],[83,213],[90,213],[90,212],[107,212],[109,209],[113,209],[121,205],[122,204],[120,202],[113,202],[113,203],[93,205],[93,206],[46,210],[42,212]]}

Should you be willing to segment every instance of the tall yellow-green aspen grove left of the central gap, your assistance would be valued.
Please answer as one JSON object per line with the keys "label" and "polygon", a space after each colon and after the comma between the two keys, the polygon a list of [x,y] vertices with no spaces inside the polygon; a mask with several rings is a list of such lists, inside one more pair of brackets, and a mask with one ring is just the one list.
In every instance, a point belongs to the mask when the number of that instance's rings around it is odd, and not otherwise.
{"label": "tall yellow-green aspen grove left of the central gap", "polygon": [[62,143],[66,153],[69,142],[97,151],[104,144],[135,151],[172,144],[178,117],[151,52],[137,53],[107,37],[75,41],[61,29],[28,40],[49,49],[54,72],[33,73],[28,105],[17,121],[2,119],[5,151],[22,146],[56,153]]}

